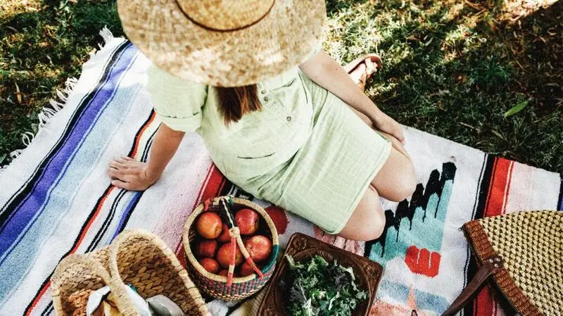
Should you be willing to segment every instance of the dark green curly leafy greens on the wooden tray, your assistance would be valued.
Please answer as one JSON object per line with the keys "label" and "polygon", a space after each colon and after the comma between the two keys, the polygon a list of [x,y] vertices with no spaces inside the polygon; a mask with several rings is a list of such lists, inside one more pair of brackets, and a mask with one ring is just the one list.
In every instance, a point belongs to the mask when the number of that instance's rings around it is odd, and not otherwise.
{"label": "dark green curly leafy greens on the wooden tray", "polygon": [[351,316],[359,303],[367,299],[367,291],[358,288],[351,267],[334,260],[328,263],[320,255],[289,263],[288,312],[293,316]]}

